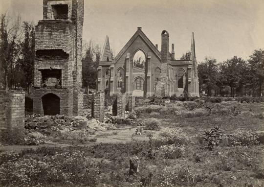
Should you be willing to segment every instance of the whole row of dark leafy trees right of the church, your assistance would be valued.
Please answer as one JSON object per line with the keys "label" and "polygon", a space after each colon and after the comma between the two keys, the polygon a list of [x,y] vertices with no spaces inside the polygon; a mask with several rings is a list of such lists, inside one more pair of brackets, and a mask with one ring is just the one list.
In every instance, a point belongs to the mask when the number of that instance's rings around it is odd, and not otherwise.
{"label": "whole row of dark leafy trees right of the church", "polygon": [[199,91],[209,96],[262,96],[264,50],[256,49],[248,60],[233,56],[217,63],[206,57],[198,63]]}

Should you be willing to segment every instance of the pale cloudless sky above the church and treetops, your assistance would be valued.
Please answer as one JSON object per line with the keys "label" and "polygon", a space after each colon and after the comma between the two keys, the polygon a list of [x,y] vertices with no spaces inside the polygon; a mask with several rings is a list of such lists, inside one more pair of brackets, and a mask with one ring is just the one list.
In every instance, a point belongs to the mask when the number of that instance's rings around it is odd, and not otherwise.
{"label": "pale cloudless sky above the church and treetops", "polygon": [[[0,0],[0,13],[20,14],[35,24],[43,19],[42,9],[43,0]],[[190,50],[192,32],[198,61],[247,59],[254,49],[264,49],[264,0],[85,0],[85,41],[103,47],[108,35],[117,54],[139,26],[159,50],[167,30],[176,59]]]}

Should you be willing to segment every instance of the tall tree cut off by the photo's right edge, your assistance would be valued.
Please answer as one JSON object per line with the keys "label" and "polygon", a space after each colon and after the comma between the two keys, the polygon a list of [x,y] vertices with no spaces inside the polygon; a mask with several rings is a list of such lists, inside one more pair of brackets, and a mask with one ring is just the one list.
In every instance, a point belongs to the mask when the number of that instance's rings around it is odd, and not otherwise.
{"label": "tall tree cut off by the photo's right edge", "polygon": [[251,74],[251,85],[253,91],[257,89],[258,95],[262,94],[262,86],[264,81],[264,50],[254,50],[253,54],[250,55],[248,60],[249,69]]}

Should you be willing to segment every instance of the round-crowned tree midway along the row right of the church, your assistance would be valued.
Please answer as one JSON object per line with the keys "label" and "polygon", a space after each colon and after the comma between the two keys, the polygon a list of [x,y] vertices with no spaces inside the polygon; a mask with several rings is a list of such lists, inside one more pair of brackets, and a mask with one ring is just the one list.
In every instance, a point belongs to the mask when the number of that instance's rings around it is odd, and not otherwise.
{"label": "round-crowned tree midway along the row right of the church", "polygon": [[228,59],[220,65],[220,74],[223,83],[230,86],[231,95],[235,96],[235,89],[242,87],[244,84],[243,73],[246,70],[246,63],[242,58],[237,56]]}

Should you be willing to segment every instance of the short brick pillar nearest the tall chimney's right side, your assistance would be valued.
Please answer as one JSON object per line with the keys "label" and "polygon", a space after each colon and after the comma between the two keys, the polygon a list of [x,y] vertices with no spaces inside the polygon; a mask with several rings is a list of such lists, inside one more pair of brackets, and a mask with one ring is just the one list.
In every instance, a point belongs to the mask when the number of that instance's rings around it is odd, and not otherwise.
{"label": "short brick pillar nearest the tall chimney's right side", "polygon": [[93,93],[92,97],[92,117],[103,122],[105,116],[105,93],[96,92]]}

